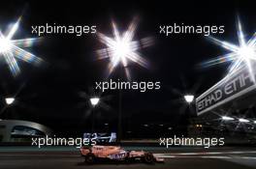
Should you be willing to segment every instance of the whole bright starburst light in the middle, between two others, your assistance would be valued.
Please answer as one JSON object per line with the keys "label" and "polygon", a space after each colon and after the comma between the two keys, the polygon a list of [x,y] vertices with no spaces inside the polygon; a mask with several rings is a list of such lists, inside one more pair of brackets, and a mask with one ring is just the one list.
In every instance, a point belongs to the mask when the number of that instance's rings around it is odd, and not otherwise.
{"label": "whole bright starburst light in the middle, between two others", "polygon": [[131,78],[127,68],[128,62],[132,61],[144,68],[149,67],[149,63],[138,52],[140,48],[147,47],[152,44],[151,38],[144,38],[140,41],[134,41],[135,32],[138,26],[138,18],[135,17],[128,29],[121,34],[114,21],[112,21],[113,38],[110,38],[102,33],[98,33],[100,42],[107,45],[107,48],[97,50],[99,59],[110,59],[109,73],[121,63],[125,69],[125,74],[128,79]]}

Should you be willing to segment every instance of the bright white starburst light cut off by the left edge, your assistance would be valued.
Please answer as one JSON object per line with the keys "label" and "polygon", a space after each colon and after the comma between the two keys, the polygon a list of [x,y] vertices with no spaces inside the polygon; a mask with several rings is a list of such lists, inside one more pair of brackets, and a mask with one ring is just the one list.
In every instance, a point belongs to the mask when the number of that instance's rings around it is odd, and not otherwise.
{"label": "bright white starburst light cut off by the left edge", "polygon": [[0,30],[0,57],[2,56],[5,59],[9,69],[12,71],[14,76],[20,73],[20,69],[18,67],[16,59],[34,65],[39,65],[43,61],[41,58],[22,49],[32,46],[34,42],[38,42],[40,39],[28,38],[13,40],[14,35],[16,34],[16,31],[18,29],[20,20],[21,16],[17,19],[16,23],[6,31],[7,34],[4,34]]}

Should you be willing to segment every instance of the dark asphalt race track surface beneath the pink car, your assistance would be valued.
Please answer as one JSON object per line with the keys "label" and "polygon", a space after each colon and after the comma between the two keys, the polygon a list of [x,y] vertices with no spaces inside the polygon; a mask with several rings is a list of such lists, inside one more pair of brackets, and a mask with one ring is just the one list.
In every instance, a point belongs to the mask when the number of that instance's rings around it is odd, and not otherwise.
{"label": "dark asphalt race track surface beneath the pink car", "polygon": [[144,164],[139,161],[127,163],[101,161],[87,165],[76,149],[70,148],[6,148],[0,147],[1,169],[105,169],[105,168],[158,168],[158,169],[246,169],[256,168],[256,148],[140,148],[129,147],[128,150],[146,149],[154,155],[164,157],[164,163]]}

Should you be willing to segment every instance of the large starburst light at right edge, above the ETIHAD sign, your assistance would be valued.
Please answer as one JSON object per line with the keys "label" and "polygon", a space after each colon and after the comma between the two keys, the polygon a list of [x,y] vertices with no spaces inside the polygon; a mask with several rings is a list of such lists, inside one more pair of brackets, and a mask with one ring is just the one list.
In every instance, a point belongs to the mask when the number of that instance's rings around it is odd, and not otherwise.
{"label": "large starburst light at right edge, above the ETIHAD sign", "polygon": [[255,82],[253,62],[256,61],[256,33],[252,36],[252,38],[246,41],[244,33],[242,32],[240,19],[238,19],[237,27],[239,45],[231,42],[220,41],[209,36],[209,40],[211,42],[214,42],[217,45],[222,46],[223,48],[231,51],[231,53],[219,56],[215,59],[211,59],[208,62],[205,62],[203,66],[205,67],[225,62],[232,62],[228,73],[228,75],[230,75],[236,72],[236,70],[239,70],[241,66],[245,65],[247,67],[248,72],[250,73],[251,80]]}

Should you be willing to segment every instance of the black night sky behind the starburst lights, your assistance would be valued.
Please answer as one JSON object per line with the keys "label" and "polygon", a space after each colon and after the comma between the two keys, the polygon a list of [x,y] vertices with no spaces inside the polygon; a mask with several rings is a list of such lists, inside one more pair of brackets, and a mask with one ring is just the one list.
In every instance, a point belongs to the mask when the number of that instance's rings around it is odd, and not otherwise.
{"label": "black night sky behind the starburst lights", "polygon": [[[196,96],[202,94],[223,77],[228,64],[207,69],[198,65],[227,51],[209,42],[203,35],[165,37],[159,34],[159,25],[173,25],[175,22],[224,25],[225,33],[216,35],[216,38],[238,42],[237,16],[240,15],[245,35],[251,36],[256,28],[254,7],[254,4],[243,1],[6,1],[0,6],[0,28],[4,30],[23,14],[16,39],[36,37],[31,34],[31,25],[46,23],[97,25],[98,32],[112,35],[112,18],[118,27],[126,29],[132,18],[139,15],[141,19],[135,39],[150,36],[155,43],[141,50],[151,67],[146,70],[132,64],[132,80],[160,81],[161,90],[122,92],[124,128],[157,123],[174,127],[182,126],[185,117],[184,104],[177,103],[176,99],[180,96],[174,90],[189,93],[199,84],[197,91],[192,92]],[[84,117],[84,114],[90,107],[86,104],[88,100],[81,99],[79,93],[89,93],[95,81],[104,80],[108,60],[95,61],[95,50],[103,46],[94,35],[48,35],[43,42],[29,48],[46,61],[40,68],[19,62],[22,71],[14,78],[6,64],[1,62],[1,96],[14,95],[19,91],[16,105],[9,107],[1,116],[35,121],[57,132],[87,130],[90,116]],[[114,71],[112,78],[117,76]],[[102,96],[111,97],[106,103],[112,109],[98,109],[97,124],[110,123],[114,129],[117,125],[118,91]],[[84,106],[80,106],[81,102]],[[3,103],[1,106],[4,106]]]}

